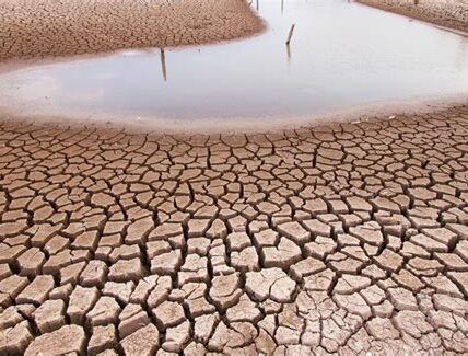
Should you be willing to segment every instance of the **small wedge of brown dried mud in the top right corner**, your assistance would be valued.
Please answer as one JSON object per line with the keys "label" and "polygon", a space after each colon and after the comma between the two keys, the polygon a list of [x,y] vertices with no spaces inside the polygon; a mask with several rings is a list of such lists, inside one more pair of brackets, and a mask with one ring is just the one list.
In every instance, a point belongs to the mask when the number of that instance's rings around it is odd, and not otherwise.
{"label": "small wedge of brown dried mud in the top right corner", "polygon": [[396,12],[468,34],[468,0],[358,0],[371,7]]}

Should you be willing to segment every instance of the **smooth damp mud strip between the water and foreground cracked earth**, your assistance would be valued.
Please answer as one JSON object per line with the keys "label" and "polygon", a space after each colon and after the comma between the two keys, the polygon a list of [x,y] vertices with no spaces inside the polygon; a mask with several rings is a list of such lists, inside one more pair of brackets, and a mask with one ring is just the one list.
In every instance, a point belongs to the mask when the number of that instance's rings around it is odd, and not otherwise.
{"label": "smooth damp mud strip between the water and foreground cracked earth", "polygon": [[412,117],[434,112],[460,107],[468,103],[466,94],[444,97],[413,97],[374,102],[355,106],[329,110],[324,113],[306,116],[233,116],[206,118],[169,118],[163,116],[137,116],[128,114],[92,114],[74,111],[51,111],[45,106],[2,106],[0,104],[0,120],[9,119],[27,125],[47,125],[60,128],[92,127],[94,129],[125,130],[132,134],[162,133],[167,135],[231,135],[231,134],[264,134],[295,130],[303,127],[324,125],[348,125],[370,120],[388,120],[395,116]]}

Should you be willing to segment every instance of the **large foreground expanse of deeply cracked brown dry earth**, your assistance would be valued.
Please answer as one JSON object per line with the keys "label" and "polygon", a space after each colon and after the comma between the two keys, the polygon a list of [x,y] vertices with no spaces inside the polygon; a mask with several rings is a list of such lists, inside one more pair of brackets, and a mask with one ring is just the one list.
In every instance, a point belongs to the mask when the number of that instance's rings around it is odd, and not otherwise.
{"label": "large foreground expanse of deeply cracked brown dry earth", "polygon": [[468,353],[467,137],[3,122],[0,354]]}

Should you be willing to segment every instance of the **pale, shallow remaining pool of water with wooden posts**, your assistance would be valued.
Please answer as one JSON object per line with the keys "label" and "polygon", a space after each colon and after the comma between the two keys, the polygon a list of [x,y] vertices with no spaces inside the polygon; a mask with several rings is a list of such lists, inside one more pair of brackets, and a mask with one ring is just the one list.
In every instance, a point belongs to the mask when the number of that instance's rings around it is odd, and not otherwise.
{"label": "pale, shallow remaining pool of water with wooden posts", "polygon": [[[36,62],[0,76],[0,107],[61,117],[281,118],[468,94],[468,38],[341,0],[256,0],[268,28],[219,45]],[[285,39],[295,31],[290,47]]]}

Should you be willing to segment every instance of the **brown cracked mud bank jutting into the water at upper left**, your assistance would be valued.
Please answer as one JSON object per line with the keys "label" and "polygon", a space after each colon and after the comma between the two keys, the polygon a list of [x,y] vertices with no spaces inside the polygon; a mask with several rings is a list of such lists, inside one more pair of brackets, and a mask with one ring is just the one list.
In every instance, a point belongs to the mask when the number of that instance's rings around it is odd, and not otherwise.
{"label": "brown cracked mud bank jutting into the water at upper left", "polygon": [[199,45],[256,34],[243,0],[2,0],[0,60]]}

